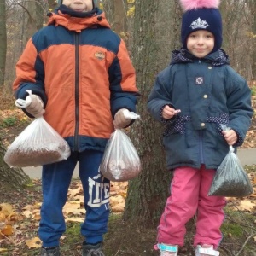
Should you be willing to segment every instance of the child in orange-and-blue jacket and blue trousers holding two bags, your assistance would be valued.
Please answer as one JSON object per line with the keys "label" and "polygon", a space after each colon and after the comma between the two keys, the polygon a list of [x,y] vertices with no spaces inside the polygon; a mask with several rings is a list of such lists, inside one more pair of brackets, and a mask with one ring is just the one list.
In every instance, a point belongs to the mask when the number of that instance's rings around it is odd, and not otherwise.
{"label": "child in orange-and-blue jacket and blue trousers holding two bags", "polygon": [[136,112],[139,96],[125,44],[94,1],[63,0],[49,14],[48,26],[28,41],[16,73],[16,98],[26,99],[26,90],[32,90],[32,103],[25,113],[44,114],[72,151],[67,160],[43,166],[41,256],[60,255],[60,238],[66,229],[62,207],[78,161],[86,209],[81,225],[83,256],[102,256],[109,181],[98,170],[113,125],[131,125],[124,112]]}

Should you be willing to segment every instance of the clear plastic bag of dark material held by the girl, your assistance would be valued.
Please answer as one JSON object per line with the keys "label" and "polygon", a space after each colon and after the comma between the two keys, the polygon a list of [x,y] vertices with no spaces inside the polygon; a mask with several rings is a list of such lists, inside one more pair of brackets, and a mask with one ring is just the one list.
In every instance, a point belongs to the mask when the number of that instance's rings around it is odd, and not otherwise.
{"label": "clear plastic bag of dark material held by the girl", "polygon": [[253,193],[253,186],[230,146],[229,153],[220,164],[208,195],[241,197]]}

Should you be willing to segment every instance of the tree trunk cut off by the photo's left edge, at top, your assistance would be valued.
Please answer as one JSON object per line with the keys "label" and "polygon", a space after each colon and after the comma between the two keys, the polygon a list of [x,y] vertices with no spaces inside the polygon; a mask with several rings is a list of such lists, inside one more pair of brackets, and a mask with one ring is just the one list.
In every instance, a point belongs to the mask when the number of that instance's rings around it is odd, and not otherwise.
{"label": "tree trunk cut off by the photo's left edge, at top", "polygon": [[7,50],[5,0],[0,0],[0,42],[0,88],[3,88]]}

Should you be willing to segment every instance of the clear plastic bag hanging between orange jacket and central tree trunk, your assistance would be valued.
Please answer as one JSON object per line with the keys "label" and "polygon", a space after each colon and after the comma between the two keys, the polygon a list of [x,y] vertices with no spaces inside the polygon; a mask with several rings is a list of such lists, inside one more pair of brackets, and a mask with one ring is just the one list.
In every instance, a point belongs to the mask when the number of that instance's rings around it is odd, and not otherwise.
{"label": "clear plastic bag hanging between orange jacket and central tree trunk", "polygon": [[100,171],[114,182],[128,181],[141,172],[137,150],[124,131],[117,129],[112,133],[103,154]]}

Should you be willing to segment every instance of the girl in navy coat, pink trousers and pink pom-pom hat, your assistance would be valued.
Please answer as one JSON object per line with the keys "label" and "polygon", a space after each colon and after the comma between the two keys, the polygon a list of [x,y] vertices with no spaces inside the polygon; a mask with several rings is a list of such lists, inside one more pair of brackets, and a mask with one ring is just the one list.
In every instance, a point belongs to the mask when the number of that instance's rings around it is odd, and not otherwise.
{"label": "girl in navy coat, pink trousers and pink pom-pom hat", "polygon": [[183,48],[172,52],[171,65],[159,73],[148,98],[148,111],[166,124],[163,143],[173,171],[154,248],[160,256],[177,256],[185,224],[197,212],[195,255],[218,256],[225,198],[207,194],[229,145],[237,148],[246,136],[253,116],[251,91],[220,49],[219,1],[181,2]]}

